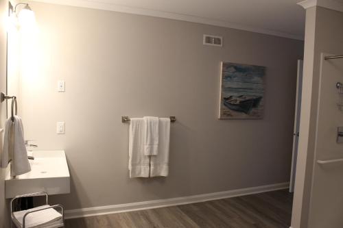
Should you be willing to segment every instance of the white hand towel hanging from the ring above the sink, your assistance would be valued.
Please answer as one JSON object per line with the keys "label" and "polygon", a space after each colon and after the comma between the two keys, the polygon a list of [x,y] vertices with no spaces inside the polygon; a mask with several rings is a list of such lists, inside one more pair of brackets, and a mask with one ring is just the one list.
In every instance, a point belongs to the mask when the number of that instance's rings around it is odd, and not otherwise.
{"label": "white hand towel hanging from the ring above the sink", "polygon": [[23,123],[19,116],[14,116],[13,122],[11,118],[8,118],[5,123],[1,167],[6,168],[10,160],[12,160],[12,175],[21,175],[31,171],[25,147]]}

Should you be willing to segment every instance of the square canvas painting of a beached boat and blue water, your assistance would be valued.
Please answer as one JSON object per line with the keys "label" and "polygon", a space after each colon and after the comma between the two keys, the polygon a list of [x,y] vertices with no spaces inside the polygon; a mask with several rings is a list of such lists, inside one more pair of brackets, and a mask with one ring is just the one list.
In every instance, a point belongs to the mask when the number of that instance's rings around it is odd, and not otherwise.
{"label": "square canvas painting of a beached boat and blue water", "polygon": [[264,66],[222,62],[219,118],[263,118],[264,75]]}

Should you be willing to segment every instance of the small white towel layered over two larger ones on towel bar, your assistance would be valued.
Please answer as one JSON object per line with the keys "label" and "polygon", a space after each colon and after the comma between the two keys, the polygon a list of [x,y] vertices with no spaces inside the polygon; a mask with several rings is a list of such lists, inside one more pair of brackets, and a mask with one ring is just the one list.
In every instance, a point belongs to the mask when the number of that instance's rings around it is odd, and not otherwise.
{"label": "small white towel layered over two larger ones on towel bar", "polygon": [[158,153],[158,117],[144,116],[145,139],[144,154],[157,155]]}

